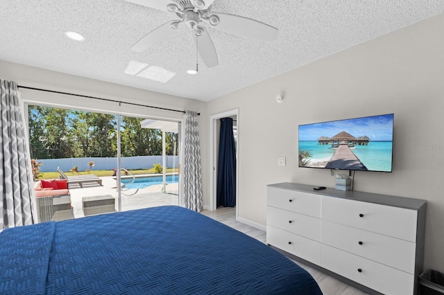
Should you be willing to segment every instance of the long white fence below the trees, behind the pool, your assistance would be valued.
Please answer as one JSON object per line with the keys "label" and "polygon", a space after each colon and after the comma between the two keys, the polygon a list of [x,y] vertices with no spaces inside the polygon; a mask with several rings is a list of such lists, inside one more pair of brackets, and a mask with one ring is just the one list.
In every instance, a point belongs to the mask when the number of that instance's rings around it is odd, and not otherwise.
{"label": "long white fence below the trees, behind the pool", "polygon": [[[65,158],[65,159],[43,159],[36,160],[37,162],[42,162],[40,166],[40,172],[51,172],[57,171],[60,167],[63,171],[67,172],[71,170],[74,166],[78,167],[78,171],[85,171],[89,169],[88,163],[93,161],[94,170],[114,170],[117,168],[117,157],[114,158]],[[178,156],[167,156],[167,168],[178,168]],[[138,157],[122,157],[121,158],[121,168],[128,169],[150,169],[153,168],[154,164],[160,163],[162,165],[162,156],[138,156]]]}

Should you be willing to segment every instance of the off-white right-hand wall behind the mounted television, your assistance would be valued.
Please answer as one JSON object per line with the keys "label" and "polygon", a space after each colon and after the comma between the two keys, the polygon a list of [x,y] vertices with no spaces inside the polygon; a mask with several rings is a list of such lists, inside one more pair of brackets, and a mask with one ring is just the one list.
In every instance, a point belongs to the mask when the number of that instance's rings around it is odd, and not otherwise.
{"label": "off-white right-hand wall behind the mounted television", "polygon": [[444,271],[443,28],[438,15],[208,102],[208,116],[239,108],[239,217],[266,224],[266,184],[334,187],[297,167],[298,125],[394,113],[393,172],[356,172],[355,190],[426,199],[425,269]]}

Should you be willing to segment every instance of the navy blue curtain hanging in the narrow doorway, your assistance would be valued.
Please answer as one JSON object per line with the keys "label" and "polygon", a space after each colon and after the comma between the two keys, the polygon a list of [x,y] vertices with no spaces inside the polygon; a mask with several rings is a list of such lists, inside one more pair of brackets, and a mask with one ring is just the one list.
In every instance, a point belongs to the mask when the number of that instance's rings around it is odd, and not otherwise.
{"label": "navy blue curtain hanging in the narrow doorway", "polygon": [[236,146],[232,118],[221,118],[217,167],[216,205],[234,207],[236,206]]}

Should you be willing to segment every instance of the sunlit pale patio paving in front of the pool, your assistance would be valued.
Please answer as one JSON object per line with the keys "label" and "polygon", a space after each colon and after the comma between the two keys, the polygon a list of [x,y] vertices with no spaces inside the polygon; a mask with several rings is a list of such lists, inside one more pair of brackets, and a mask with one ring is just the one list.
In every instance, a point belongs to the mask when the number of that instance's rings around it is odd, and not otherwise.
{"label": "sunlit pale patio paving in front of the pool", "polygon": [[[69,190],[71,194],[71,205],[73,206],[74,217],[85,217],[83,213],[82,198],[99,195],[111,195],[115,199],[116,211],[119,209],[119,200],[117,196],[117,183],[113,177],[100,177],[102,186],[83,186],[83,188],[72,188]],[[178,184],[168,184],[168,191],[177,192]],[[124,195],[124,193],[126,195]],[[155,206],[178,205],[178,196],[169,193],[162,193],[162,184],[140,188],[137,193],[135,189],[129,189],[122,192],[122,211],[135,210],[140,208],[148,208]]]}

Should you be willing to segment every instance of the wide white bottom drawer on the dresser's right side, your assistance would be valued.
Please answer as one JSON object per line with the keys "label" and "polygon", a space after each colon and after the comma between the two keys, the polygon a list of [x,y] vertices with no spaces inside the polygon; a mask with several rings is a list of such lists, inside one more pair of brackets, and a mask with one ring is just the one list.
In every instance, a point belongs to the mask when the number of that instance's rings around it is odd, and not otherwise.
{"label": "wide white bottom drawer on the dresser's right side", "polygon": [[321,246],[321,266],[383,294],[413,294],[413,274],[325,244]]}

